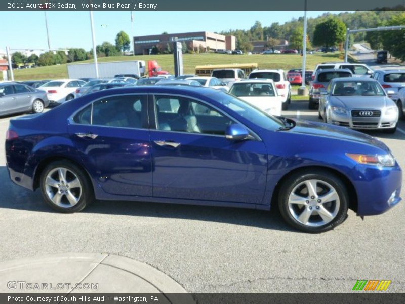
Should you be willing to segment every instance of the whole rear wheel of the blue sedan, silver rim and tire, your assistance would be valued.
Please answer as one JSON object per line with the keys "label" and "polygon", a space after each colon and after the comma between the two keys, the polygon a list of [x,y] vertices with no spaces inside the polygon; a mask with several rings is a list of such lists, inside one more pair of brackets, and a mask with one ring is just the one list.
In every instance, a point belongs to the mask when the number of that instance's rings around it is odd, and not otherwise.
{"label": "whole rear wheel of the blue sedan, silver rim and tire", "polygon": [[68,161],[50,163],[43,170],[40,183],[45,201],[59,212],[82,211],[93,200],[87,174]]}

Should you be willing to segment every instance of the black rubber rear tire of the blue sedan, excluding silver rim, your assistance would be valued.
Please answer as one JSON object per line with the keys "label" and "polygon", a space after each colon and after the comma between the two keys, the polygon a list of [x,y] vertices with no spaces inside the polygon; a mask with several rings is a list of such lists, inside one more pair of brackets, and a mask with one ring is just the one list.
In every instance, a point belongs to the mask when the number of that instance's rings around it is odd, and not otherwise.
{"label": "black rubber rear tire of the blue sedan, excluding silver rim", "polygon": [[[80,191],[78,191],[77,190],[78,188],[76,188],[76,187],[75,188],[71,187],[70,189],[66,189],[66,191],[69,191],[69,194],[74,193],[75,196],[78,197],[77,203],[75,203],[74,205],[72,205],[70,207],[69,207],[69,204],[64,203],[64,202],[68,202],[67,195],[65,195],[65,194],[59,195],[62,197],[61,202],[63,204],[63,207],[61,207],[50,199],[49,193],[47,192],[46,178],[52,171],[56,170],[56,168],[67,169],[68,172],[71,172],[75,175],[74,177],[76,177],[80,183],[80,186],[81,186]],[[55,174],[58,175],[58,173],[56,173],[56,172],[55,172]],[[69,180],[72,181],[72,179],[70,178],[71,176],[73,176],[73,175],[70,173],[66,174],[65,186],[67,186],[67,187],[69,186]],[[55,178],[54,180],[57,181],[57,183],[60,182],[59,185],[64,183],[63,181],[61,181],[58,178]],[[49,206],[51,206],[51,208],[53,208],[54,210],[62,212],[62,213],[74,213],[74,212],[82,211],[87,205],[89,205],[92,201],[94,201],[93,186],[89,180],[87,173],[83,169],[79,168],[77,165],[75,165],[69,161],[62,160],[62,161],[56,161],[56,162],[52,162],[52,163],[48,164],[41,173],[41,178],[40,178],[39,183],[40,183],[41,192],[42,192],[45,202]],[[58,188],[56,186],[51,187],[49,189],[52,189],[51,191],[53,192],[53,194],[56,194],[57,192],[60,191],[60,189],[58,190]],[[73,189],[74,189],[74,191],[73,191]],[[56,190],[56,191],[54,191],[54,190]]]}

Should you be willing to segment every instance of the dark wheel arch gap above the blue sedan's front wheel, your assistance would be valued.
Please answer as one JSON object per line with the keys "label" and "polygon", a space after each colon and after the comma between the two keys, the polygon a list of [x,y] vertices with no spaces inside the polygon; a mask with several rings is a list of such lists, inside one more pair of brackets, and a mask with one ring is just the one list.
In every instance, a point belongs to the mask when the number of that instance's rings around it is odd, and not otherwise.
{"label": "dark wheel arch gap above the blue sedan's front wheel", "polygon": [[330,168],[330,167],[325,167],[325,166],[304,166],[304,167],[299,167],[299,168],[295,168],[294,170],[291,170],[290,172],[286,173],[284,176],[282,176],[273,191],[272,197],[271,197],[271,208],[274,206],[278,205],[278,196],[280,194],[280,188],[281,185],[285,182],[285,180],[291,176],[292,174],[296,174],[296,173],[304,173],[305,171],[310,172],[310,171],[323,171],[323,172],[328,172],[330,174],[333,174],[335,176],[337,176],[338,178],[340,178],[344,185],[346,186],[347,192],[349,194],[349,209],[355,211],[357,213],[357,209],[358,209],[358,198],[357,198],[357,192],[356,189],[354,188],[353,183],[351,182],[351,180],[342,172]]}

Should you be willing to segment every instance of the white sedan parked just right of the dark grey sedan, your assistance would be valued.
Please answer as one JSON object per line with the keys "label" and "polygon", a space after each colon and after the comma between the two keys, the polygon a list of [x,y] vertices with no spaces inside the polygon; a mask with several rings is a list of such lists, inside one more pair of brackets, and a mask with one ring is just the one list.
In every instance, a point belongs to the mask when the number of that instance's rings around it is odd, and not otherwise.
{"label": "white sedan parked just right of the dark grey sedan", "polygon": [[75,98],[76,89],[85,84],[80,79],[57,79],[43,84],[38,90],[47,92],[49,103],[55,105]]}

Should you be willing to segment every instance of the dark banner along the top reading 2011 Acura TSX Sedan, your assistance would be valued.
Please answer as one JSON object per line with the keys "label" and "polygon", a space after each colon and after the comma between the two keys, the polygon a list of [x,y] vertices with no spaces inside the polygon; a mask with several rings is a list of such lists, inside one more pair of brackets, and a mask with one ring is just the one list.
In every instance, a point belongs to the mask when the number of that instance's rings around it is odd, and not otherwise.
{"label": "dark banner along the top reading 2011 Acura TSX Sedan", "polygon": [[[2,0],[0,11],[304,11],[305,0]],[[307,11],[404,10],[403,0],[307,0]]]}

